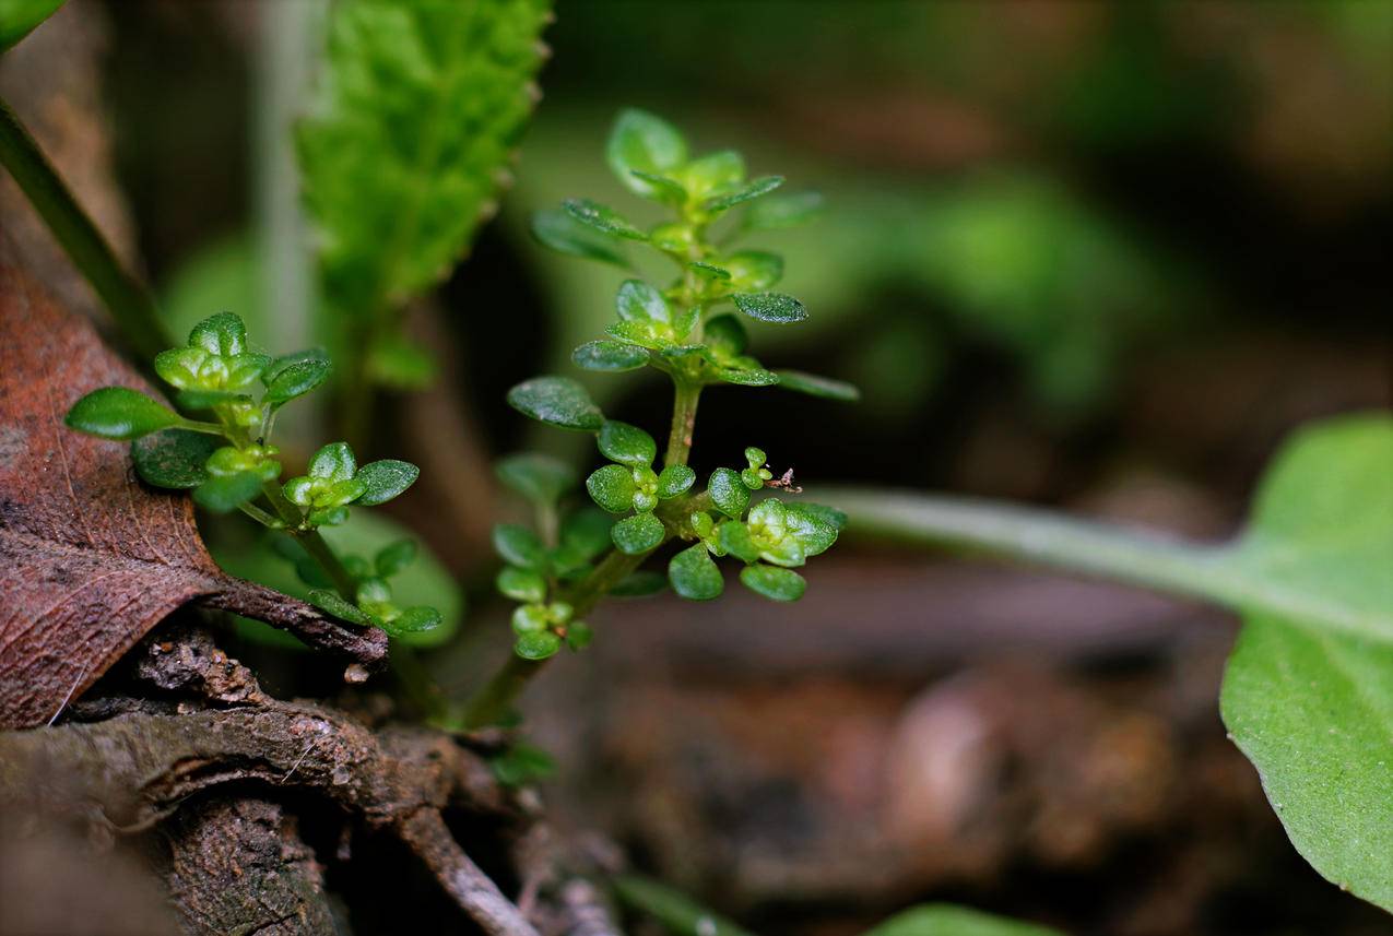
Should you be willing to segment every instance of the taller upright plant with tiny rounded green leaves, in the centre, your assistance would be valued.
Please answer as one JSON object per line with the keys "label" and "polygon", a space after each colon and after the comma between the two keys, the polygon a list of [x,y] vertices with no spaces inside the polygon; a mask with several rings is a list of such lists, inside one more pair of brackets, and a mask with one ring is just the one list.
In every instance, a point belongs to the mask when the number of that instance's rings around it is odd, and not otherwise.
{"label": "taller upright plant with tiny rounded green leaves, in the centre", "polygon": [[[775,292],[783,259],[737,248],[745,235],[808,220],[818,199],[772,195],[779,176],[747,178],[734,150],[694,156],[666,121],[639,111],[618,116],[609,136],[610,169],[630,192],[666,214],[641,228],[614,209],[570,199],[534,219],[538,240],[563,254],[628,266],[624,244],[644,245],[676,267],[652,286],[628,279],[614,299],[607,337],[575,348],[571,359],[605,373],[644,366],[673,382],[673,418],[659,461],[657,442],[644,429],[606,419],[585,389],[570,377],[542,376],[508,391],[520,412],[559,429],[593,433],[609,464],[585,479],[599,507],[560,518],[561,499],[578,482],[566,465],[520,454],[499,465],[500,479],[536,510],[535,528],[504,524],[495,546],[507,563],[497,588],[518,602],[513,613],[515,657],[464,708],[462,723],[479,727],[504,719],[543,660],[563,646],[579,650],[592,630],[585,621],[607,595],[637,595],[663,586],[639,567],[669,540],[683,547],[667,561],[667,582],[681,598],[709,600],[724,591],[715,559],[742,563],[740,581],[765,598],[790,602],[807,582],[795,570],[827,550],[846,517],[830,507],[777,497],[797,493],[791,472],[776,478],[762,448],[744,464],[717,468],[699,486],[688,455],[702,391],[713,384],[783,386],[801,393],[854,400],[850,384],[765,368],[748,352],[741,316],[790,325],[808,316],[791,295]],[[731,311],[733,309],[733,311]],[[617,518],[617,520],[616,520]]]}

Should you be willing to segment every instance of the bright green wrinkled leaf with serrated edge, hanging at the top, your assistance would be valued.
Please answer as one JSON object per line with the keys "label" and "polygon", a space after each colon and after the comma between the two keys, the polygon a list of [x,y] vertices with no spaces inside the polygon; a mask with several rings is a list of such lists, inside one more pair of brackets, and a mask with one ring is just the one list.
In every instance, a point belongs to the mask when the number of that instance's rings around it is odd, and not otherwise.
{"label": "bright green wrinkled leaf with serrated edge, hanging at the top", "polygon": [[496,210],[536,102],[546,0],[340,0],[299,128],[325,290],[372,315],[433,286]]}

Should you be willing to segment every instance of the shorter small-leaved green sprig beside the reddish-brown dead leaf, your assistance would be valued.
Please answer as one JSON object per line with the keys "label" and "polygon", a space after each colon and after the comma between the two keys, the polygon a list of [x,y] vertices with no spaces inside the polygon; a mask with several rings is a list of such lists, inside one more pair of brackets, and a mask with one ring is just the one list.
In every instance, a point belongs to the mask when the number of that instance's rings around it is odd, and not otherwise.
{"label": "shorter small-leaved green sprig beside the reddish-brown dead leaf", "polygon": [[272,444],[276,416],[323,384],[330,369],[318,350],[277,358],[255,350],[242,320],[221,312],[198,323],[185,347],[155,358],[180,407],[210,419],[189,419],[130,387],[102,387],[72,404],[65,422],[130,442],[145,483],[192,490],[208,510],[240,510],[290,535],[304,550],[290,557],[313,586],[309,599],[320,610],[396,637],[429,630],[440,613],[398,607],[389,584],[415,559],[415,542],[391,543],[369,560],[337,556],[319,533],[348,520],[351,506],[372,507],[403,493],[415,482],[417,467],[394,458],[359,465],[347,443],[334,442],[311,457],[304,475],[281,482],[280,448]]}

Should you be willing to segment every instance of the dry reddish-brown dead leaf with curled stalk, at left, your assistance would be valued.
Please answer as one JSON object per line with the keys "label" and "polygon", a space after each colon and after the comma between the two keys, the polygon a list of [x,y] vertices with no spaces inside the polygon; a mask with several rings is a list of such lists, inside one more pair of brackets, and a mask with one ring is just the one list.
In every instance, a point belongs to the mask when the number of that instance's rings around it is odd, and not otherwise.
{"label": "dry reddish-brown dead leaf with curled stalk, at left", "polygon": [[54,719],[192,599],[359,663],[384,657],[382,631],[223,572],[187,496],[143,488],[125,444],[64,426],[103,386],[152,393],[85,319],[0,259],[0,728]]}

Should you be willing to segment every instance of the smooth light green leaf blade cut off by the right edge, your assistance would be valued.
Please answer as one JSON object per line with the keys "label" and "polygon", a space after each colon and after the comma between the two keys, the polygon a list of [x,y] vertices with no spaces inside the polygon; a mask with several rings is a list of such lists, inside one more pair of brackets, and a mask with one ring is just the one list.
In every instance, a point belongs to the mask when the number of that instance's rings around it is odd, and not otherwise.
{"label": "smooth light green leaf blade cut off by the right edge", "polygon": [[1393,911],[1393,421],[1300,433],[1233,563],[1339,620],[1247,613],[1224,724],[1307,861]]}

